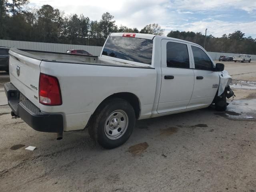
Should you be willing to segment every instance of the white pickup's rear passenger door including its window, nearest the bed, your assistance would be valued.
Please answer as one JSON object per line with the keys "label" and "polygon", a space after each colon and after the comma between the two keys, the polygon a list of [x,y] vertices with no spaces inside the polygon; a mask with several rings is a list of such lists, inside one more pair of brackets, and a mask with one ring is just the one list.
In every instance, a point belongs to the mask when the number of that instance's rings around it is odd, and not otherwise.
{"label": "white pickup's rear passenger door including its window, nearest the bed", "polygon": [[194,72],[188,44],[181,41],[163,39],[162,84],[158,103],[158,113],[186,109],[194,87]]}

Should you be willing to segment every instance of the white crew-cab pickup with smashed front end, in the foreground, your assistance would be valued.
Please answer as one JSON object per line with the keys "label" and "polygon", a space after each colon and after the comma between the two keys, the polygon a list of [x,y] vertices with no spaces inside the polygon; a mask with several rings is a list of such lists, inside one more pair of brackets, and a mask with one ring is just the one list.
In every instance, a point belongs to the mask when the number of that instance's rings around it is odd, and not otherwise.
{"label": "white crew-cab pickup with smashed front end, in the foreground", "polygon": [[226,110],[233,96],[224,64],[201,46],[151,34],[112,33],[100,56],[12,48],[9,68],[12,116],[57,139],[88,127],[104,148],[126,142],[136,119]]}

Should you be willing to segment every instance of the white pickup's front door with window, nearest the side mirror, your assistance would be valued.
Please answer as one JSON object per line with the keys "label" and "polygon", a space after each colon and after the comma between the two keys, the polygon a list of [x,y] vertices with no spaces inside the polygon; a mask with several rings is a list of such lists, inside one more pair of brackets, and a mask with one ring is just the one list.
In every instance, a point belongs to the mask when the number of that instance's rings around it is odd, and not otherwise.
{"label": "white pickup's front door with window, nearest the side mirror", "polygon": [[220,76],[214,71],[213,61],[200,46],[191,45],[194,90],[188,108],[210,105],[218,90]]}

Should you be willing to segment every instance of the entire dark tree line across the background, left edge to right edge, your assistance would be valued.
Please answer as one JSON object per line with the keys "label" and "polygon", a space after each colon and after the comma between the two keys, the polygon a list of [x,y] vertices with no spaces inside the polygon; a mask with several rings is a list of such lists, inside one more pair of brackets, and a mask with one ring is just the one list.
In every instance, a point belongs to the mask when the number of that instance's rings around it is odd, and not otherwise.
{"label": "entire dark tree line across the background, left edge to right edge", "polygon": [[[109,12],[102,14],[100,20],[90,20],[83,14],[66,15],[50,5],[28,8],[28,2],[0,0],[0,39],[102,46],[112,32],[164,34],[158,24],[148,24],[140,30],[118,27]],[[177,30],[170,31],[167,36],[204,46],[205,35],[201,32]],[[241,31],[224,34],[221,38],[208,35],[205,48],[212,52],[256,54],[256,39],[245,38]]]}

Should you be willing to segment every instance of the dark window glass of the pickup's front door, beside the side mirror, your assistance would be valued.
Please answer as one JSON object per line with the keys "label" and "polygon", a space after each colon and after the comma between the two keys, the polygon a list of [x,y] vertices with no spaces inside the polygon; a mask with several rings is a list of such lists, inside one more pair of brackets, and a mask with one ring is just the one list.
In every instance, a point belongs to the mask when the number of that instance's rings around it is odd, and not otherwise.
{"label": "dark window glass of the pickup's front door, beside the side mirror", "polygon": [[212,70],[212,61],[206,53],[195,46],[191,46],[194,55],[195,68],[201,70]]}

